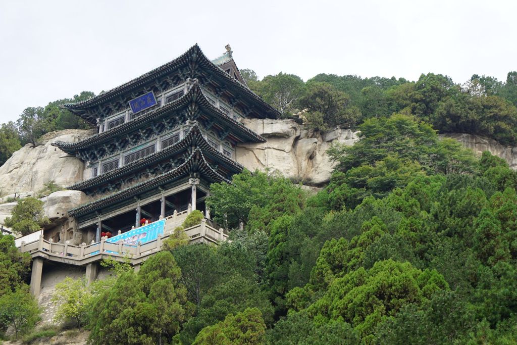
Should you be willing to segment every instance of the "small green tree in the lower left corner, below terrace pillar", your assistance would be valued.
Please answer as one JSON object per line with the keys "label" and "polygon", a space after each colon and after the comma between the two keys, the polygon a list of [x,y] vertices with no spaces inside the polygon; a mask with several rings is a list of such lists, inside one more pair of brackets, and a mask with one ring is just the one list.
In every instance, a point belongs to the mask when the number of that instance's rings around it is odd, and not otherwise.
{"label": "small green tree in the lower left corner, below terrace pillar", "polygon": [[38,302],[26,285],[0,296],[0,329],[12,327],[16,339],[34,328],[40,313]]}

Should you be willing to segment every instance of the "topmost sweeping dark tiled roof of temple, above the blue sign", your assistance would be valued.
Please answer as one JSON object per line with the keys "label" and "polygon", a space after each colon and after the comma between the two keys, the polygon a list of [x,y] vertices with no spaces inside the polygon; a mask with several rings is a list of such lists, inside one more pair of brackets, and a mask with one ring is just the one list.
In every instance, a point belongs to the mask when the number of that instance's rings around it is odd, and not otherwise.
{"label": "topmost sweeping dark tiled roof of temple, above the blue sign", "polygon": [[[216,59],[216,61],[218,59]],[[138,78],[132,79],[120,86],[112,88],[111,90],[99,94],[98,96],[92,97],[90,99],[77,103],[64,104],[63,107],[72,112],[78,112],[80,110],[85,110],[91,107],[99,106],[105,102],[123,96],[133,91],[134,89],[143,87],[148,83],[155,82],[158,78],[165,76],[166,74],[174,71],[179,67],[188,65],[191,61],[199,63],[199,66],[205,67],[207,70],[214,73],[217,77],[224,80],[227,83],[227,87],[234,89],[234,91],[241,93],[242,96],[244,96],[248,101],[255,103],[258,106],[258,108],[262,109],[265,112],[266,116],[264,117],[277,118],[280,114],[278,110],[270,106],[270,104],[266,103],[262,98],[253,93],[245,84],[242,84],[241,82],[230,76],[228,73],[226,73],[224,70],[222,70],[219,66],[211,62],[201,51],[199,46],[197,46],[197,43],[194,46],[192,46],[187,52],[175,58],[174,60],[158,68],[155,68],[147,73],[144,73],[142,74],[142,76]],[[92,122],[92,119],[90,119],[89,117],[82,117],[85,118],[86,121],[90,123]]]}

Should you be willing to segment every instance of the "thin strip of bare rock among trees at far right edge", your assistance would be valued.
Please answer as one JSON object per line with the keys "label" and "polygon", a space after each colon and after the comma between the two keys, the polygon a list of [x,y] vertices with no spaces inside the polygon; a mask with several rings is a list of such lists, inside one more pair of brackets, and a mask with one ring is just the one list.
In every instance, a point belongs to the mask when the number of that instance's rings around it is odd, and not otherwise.
{"label": "thin strip of bare rock among trees at far right edge", "polygon": [[462,146],[472,149],[477,156],[481,156],[484,151],[506,160],[511,169],[517,170],[517,147],[499,144],[494,139],[476,136],[467,133],[447,133],[440,134],[440,138],[451,138],[458,141]]}

